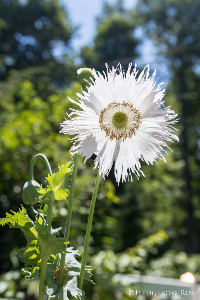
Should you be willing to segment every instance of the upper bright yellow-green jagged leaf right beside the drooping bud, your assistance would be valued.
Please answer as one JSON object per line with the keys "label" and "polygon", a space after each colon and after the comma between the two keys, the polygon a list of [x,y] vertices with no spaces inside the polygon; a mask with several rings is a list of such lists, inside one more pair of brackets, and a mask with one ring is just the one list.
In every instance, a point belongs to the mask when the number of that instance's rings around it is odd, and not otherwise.
{"label": "upper bright yellow-green jagged leaf right beside the drooping bud", "polygon": [[42,186],[38,190],[41,204],[46,203],[55,196],[56,200],[65,200],[69,195],[70,179],[72,175],[72,163],[68,162],[61,167],[58,165],[58,172],[46,177],[46,188]]}

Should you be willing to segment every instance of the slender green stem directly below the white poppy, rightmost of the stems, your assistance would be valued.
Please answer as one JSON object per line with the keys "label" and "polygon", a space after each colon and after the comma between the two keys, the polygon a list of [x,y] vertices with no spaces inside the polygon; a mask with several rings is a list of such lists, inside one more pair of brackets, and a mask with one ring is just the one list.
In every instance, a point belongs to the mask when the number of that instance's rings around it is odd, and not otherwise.
{"label": "slender green stem directly below the white poppy, rightmost of the stems", "polygon": [[83,279],[84,279],[84,274],[85,274],[85,265],[86,265],[87,255],[88,255],[89,238],[90,238],[90,233],[91,233],[92,219],[93,219],[93,214],[94,214],[95,202],[97,199],[97,191],[98,191],[98,187],[99,187],[99,182],[100,182],[100,175],[98,173],[96,182],[94,185],[94,191],[93,191],[93,195],[92,195],[90,212],[89,212],[89,217],[88,217],[88,224],[87,224],[87,229],[86,229],[86,234],[85,234],[85,243],[84,243],[83,256],[82,256],[82,262],[81,262],[81,271],[80,271],[79,283],[78,283],[79,289],[82,289],[82,284],[83,284]]}

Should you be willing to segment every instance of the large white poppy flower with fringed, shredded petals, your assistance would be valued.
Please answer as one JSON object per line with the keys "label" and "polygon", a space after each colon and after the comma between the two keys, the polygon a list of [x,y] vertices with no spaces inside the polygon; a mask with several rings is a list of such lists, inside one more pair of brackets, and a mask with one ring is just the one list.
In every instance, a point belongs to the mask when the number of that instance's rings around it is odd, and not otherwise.
{"label": "large white poppy flower with fringed, shredded petals", "polygon": [[[81,108],[71,109],[69,120],[61,123],[60,132],[76,135],[73,137],[71,151],[85,156],[85,161],[94,153],[95,167],[99,167],[100,176],[108,175],[113,162],[117,182],[126,181],[131,171],[138,177],[139,159],[148,165],[157,158],[165,161],[163,146],[169,148],[166,141],[178,141],[172,126],[177,114],[170,106],[164,107],[164,91],[160,83],[155,87],[156,71],[149,76],[149,66],[136,78],[136,66],[131,72],[129,64],[127,73],[121,65],[112,70],[107,68],[107,75],[93,71],[95,81],[77,94],[78,102],[69,100]],[[77,116],[73,118],[73,115]],[[173,120],[173,121],[170,121]]]}

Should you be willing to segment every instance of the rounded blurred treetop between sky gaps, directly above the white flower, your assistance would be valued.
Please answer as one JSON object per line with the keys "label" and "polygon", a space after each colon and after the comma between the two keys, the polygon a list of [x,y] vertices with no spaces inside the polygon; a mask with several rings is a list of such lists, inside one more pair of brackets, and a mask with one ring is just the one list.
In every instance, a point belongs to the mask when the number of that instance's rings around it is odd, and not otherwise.
{"label": "rounded blurred treetop between sky gaps, directly above the white flower", "polygon": [[117,1],[114,6],[104,4],[103,15],[97,18],[97,34],[93,47],[82,47],[81,58],[87,67],[105,70],[105,63],[109,67],[116,67],[119,62],[126,69],[127,64],[136,56],[137,40],[133,36],[134,21]]}

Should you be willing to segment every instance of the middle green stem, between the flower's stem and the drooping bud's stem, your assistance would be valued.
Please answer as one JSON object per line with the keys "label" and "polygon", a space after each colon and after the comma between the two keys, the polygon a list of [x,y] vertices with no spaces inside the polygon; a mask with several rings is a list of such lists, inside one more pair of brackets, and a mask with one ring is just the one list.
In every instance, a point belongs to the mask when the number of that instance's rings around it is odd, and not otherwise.
{"label": "middle green stem, between the flower's stem and the drooping bud's stem", "polygon": [[[73,206],[73,198],[74,198],[74,190],[75,190],[75,182],[76,182],[76,173],[77,173],[78,163],[79,163],[79,154],[76,153],[74,156],[73,174],[72,174],[72,179],[70,182],[70,194],[69,194],[68,209],[67,209],[67,220],[66,220],[66,226],[65,226],[65,232],[64,232],[64,238],[66,238],[67,241],[69,239],[69,233],[70,233],[72,206]],[[62,285],[63,279],[64,279],[64,262],[65,262],[65,253],[62,253],[61,260],[60,260],[60,271],[59,271],[60,286]]]}

